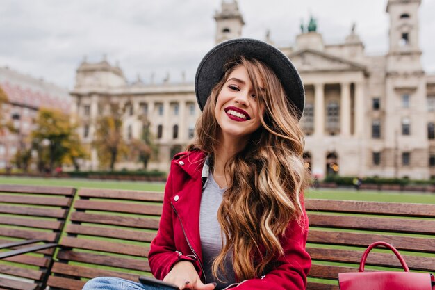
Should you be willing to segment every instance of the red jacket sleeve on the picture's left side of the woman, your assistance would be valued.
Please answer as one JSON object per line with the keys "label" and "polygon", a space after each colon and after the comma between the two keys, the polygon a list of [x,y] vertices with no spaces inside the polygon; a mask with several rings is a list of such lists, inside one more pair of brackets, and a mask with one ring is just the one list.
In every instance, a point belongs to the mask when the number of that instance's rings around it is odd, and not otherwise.
{"label": "red jacket sleeve on the picture's left side of the woman", "polygon": [[148,261],[151,273],[159,280],[169,273],[177,261],[186,260],[194,261],[191,257],[184,256],[178,252],[174,243],[174,230],[172,223],[172,206],[170,198],[172,197],[172,175],[167,177],[165,186],[165,197],[163,199],[163,211],[158,226],[156,237],[151,241]]}

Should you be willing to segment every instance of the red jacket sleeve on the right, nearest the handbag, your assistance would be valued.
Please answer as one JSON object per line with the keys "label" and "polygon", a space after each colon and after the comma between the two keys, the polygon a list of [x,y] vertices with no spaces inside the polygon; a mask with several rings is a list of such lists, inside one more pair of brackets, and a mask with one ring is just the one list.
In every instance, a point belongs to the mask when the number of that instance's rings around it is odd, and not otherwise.
{"label": "red jacket sleeve on the right, nearest the handbag", "polygon": [[292,221],[282,239],[284,255],[277,259],[277,266],[262,279],[249,279],[235,290],[304,290],[306,275],[311,268],[311,257],[305,245],[308,236],[308,216],[304,210],[301,220]]}

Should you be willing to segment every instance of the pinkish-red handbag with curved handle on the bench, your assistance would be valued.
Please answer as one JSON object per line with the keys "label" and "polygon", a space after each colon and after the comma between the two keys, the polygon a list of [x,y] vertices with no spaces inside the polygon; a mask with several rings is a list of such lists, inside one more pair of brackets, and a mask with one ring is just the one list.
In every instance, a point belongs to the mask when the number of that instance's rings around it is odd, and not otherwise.
{"label": "pinkish-red handbag with curved handle on the bench", "polygon": [[[379,271],[364,272],[368,253],[372,248],[383,245],[392,250],[399,259],[404,272]],[[411,273],[400,253],[385,242],[375,242],[368,246],[361,257],[357,273],[339,273],[340,290],[435,290],[434,276],[429,273]]]}

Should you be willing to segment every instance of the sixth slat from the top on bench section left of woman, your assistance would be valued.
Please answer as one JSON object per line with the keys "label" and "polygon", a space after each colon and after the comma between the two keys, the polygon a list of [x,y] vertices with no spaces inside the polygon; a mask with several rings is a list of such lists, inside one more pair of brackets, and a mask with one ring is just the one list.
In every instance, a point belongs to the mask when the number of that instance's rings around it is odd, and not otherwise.
{"label": "sixth slat from the top on bench section left of woman", "polygon": [[90,254],[88,252],[61,251],[58,254],[58,259],[67,261],[79,261],[82,263],[113,266],[118,268],[126,268],[137,271],[151,272],[148,261],[124,258],[124,257],[108,257],[106,255]]}

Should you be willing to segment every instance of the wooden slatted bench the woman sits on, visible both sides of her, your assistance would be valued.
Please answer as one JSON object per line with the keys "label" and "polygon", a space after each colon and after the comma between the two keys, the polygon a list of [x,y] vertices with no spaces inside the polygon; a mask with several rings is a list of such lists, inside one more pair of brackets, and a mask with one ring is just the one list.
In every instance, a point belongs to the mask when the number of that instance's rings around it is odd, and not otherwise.
{"label": "wooden slatted bench the woman sits on, visible both sides of her", "polygon": [[[51,289],[81,289],[85,280],[151,275],[149,242],[158,229],[163,193],[82,189],[60,241]],[[435,204],[306,200],[313,258],[308,289],[338,290],[338,273],[357,271],[374,241],[392,243],[413,271],[435,272]],[[375,250],[367,261],[400,271],[390,252]]]}

